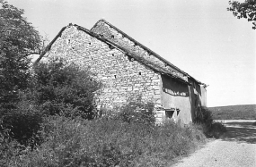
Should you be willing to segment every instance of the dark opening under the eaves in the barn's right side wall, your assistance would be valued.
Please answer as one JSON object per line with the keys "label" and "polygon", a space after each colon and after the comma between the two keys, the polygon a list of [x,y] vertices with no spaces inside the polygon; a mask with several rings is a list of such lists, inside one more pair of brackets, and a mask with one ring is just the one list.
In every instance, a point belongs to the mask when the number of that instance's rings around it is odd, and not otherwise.
{"label": "dark opening under the eaves in the barn's right side wall", "polygon": [[176,81],[170,77],[162,76],[163,92],[172,96],[190,96],[186,84]]}

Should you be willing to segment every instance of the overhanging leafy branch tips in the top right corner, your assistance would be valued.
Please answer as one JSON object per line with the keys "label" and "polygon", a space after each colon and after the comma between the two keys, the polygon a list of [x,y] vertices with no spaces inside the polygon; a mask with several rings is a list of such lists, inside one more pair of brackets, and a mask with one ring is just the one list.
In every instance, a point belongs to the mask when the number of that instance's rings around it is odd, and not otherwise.
{"label": "overhanging leafy branch tips in the top right corner", "polygon": [[244,3],[238,1],[229,1],[231,7],[227,11],[231,11],[237,19],[247,19],[252,22],[252,29],[256,29],[256,0],[245,0]]}

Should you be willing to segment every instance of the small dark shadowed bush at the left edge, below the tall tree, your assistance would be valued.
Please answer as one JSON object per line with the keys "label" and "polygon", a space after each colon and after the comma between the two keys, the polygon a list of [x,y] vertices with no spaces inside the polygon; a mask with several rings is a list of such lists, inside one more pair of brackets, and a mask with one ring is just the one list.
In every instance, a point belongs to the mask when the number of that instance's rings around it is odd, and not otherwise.
{"label": "small dark shadowed bush at the left edge, below the tall tree", "polygon": [[10,140],[21,145],[33,146],[40,144],[40,123],[42,114],[24,99],[15,104],[14,109],[5,109],[0,118],[0,131],[8,132]]}

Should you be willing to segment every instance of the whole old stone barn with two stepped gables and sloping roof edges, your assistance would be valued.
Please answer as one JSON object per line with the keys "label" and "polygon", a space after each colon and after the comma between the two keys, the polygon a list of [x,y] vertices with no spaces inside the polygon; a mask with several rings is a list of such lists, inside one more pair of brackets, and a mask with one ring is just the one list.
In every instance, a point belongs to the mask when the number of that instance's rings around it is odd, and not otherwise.
{"label": "whole old stone barn with two stepped gables and sloping roof edges", "polygon": [[92,29],[69,24],[59,31],[35,63],[63,58],[90,69],[102,81],[99,107],[125,104],[139,95],[155,104],[156,120],[189,123],[198,105],[207,105],[206,84],[169,63],[109,22]]}

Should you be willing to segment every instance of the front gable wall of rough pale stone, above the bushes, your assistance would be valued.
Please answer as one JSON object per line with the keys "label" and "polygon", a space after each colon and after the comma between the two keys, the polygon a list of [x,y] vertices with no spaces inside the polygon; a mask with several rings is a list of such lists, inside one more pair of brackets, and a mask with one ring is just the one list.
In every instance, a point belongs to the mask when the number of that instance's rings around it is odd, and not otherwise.
{"label": "front gable wall of rough pale stone, above the bushes", "polygon": [[96,98],[99,106],[124,104],[129,96],[135,95],[160,104],[159,73],[75,26],[69,26],[62,32],[46,56],[61,57],[92,71],[96,79],[102,81],[101,93]]}

